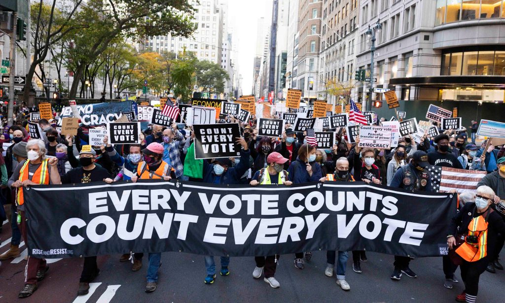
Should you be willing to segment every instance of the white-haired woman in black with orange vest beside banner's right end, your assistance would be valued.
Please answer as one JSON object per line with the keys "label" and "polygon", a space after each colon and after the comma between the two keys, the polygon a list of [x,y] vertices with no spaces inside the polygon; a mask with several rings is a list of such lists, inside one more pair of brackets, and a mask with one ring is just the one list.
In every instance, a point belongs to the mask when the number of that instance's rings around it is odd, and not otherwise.
{"label": "white-haired woman in black with orange vest beside banner's right end", "polygon": [[[489,263],[487,254],[494,251],[498,233],[505,233],[505,222],[490,207],[493,200],[494,192],[490,187],[478,187],[475,203],[466,203],[450,223],[447,245],[462,258],[461,277],[465,283],[465,290],[456,297],[459,302],[475,302],[479,277]],[[464,237],[458,248],[456,237]]]}

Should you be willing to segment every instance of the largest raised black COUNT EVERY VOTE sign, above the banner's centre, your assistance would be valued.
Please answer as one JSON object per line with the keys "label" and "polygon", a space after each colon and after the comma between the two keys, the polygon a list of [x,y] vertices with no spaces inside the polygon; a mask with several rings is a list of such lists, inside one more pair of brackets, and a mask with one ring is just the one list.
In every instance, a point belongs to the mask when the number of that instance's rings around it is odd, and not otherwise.
{"label": "largest raised black COUNT EVERY VOTE sign, above the banner's centre", "polygon": [[193,125],[195,159],[240,156],[238,123]]}

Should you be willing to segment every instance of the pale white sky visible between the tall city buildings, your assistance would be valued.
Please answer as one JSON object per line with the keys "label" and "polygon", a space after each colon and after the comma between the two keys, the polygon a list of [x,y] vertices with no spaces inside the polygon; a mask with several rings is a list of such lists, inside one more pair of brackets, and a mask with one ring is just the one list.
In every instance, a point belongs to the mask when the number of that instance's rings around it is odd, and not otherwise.
{"label": "pale white sky visible between the tall city buildings", "polygon": [[256,55],[257,23],[260,17],[270,20],[272,0],[229,0],[228,10],[228,24],[233,27],[233,35],[236,37],[233,50],[237,55],[238,73],[243,77],[242,93],[250,95]]}

